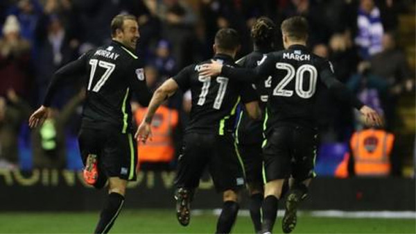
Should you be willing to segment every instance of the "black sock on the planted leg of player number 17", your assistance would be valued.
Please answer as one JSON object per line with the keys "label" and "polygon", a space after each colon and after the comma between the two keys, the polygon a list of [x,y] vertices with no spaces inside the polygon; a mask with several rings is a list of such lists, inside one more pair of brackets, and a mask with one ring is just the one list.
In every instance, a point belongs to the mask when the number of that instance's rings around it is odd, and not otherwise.
{"label": "black sock on the planted leg of player number 17", "polygon": [[123,207],[123,203],[123,195],[116,192],[108,194],[108,199],[105,201],[104,208],[101,211],[100,220],[98,221],[94,233],[108,233],[108,231],[110,231],[110,228],[113,226],[114,221]]}

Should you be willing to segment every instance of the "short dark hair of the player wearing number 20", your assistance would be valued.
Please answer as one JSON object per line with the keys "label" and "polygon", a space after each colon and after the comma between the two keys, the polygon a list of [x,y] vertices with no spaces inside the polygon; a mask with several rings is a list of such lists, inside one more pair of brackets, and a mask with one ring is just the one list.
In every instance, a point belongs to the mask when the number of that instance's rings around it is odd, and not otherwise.
{"label": "short dark hair of the player wearing number 20", "polygon": [[308,22],[302,16],[290,17],[281,23],[281,32],[291,40],[306,40],[308,37]]}

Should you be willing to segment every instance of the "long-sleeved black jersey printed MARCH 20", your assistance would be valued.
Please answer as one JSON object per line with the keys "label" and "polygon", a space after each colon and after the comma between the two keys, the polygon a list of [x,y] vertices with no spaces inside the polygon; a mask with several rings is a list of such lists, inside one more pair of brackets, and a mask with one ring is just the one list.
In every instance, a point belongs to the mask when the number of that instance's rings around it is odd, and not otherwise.
{"label": "long-sleeved black jersey printed MARCH 20", "polygon": [[254,69],[223,66],[222,76],[239,81],[255,81],[272,76],[266,106],[266,129],[285,122],[316,127],[314,107],[318,92],[329,88],[338,99],[359,109],[359,101],[333,74],[331,62],[311,53],[303,45],[268,53]]}

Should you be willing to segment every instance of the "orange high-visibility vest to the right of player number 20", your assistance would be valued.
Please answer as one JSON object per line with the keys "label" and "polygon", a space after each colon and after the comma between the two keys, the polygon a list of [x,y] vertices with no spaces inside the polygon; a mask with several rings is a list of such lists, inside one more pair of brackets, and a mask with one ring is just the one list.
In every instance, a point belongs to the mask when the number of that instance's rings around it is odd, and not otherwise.
{"label": "orange high-visibility vest to the right of player number 20", "polygon": [[395,135],[382,129],[355,132],[350,141],[356,176],[388,176]]}

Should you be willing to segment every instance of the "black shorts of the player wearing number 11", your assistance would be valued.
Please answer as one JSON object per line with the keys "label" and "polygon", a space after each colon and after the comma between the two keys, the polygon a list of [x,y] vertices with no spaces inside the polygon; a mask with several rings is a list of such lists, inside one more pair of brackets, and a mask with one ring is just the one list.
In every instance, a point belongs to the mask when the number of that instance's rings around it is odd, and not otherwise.
{"label": "black shorts of the player wearing number 11", "polygon": [[196,188],[208,167],[217,192],[244,187],[244,172],[232,135],[187,133],[177,161],[176,187]]}

